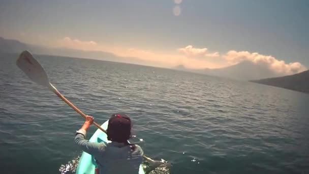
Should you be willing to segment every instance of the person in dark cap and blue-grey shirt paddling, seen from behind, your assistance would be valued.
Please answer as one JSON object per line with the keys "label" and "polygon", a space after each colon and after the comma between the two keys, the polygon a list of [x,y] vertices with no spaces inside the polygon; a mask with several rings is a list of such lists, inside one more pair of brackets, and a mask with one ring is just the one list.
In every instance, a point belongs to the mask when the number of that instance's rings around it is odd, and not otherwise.
{"label": "person in dark cap and blue-grey shirt paddling, seen from behind", "polygon": [[75,143],[84,152],[95,157],[99,173],[134,173],[139,172],[143,162],[143,150],[137,144],[128,142],[131,137],[132,123],[126,114],[113,114],[108,121],[106,142],[90,142],[85,139],[86,131],[94,123],[94,118],[86,115],[82,127],[76,131]]}

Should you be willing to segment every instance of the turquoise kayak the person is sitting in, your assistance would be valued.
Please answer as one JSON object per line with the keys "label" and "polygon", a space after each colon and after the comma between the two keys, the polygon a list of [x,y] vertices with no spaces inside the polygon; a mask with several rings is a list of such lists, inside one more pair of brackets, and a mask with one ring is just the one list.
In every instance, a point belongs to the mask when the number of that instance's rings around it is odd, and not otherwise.
{"label": "turquoise kayak the person is sitting in", "polygon": [[[105,123],[103,123],[101,125],[101,127],[105,130],[107,130],[107,126],[108,126],[108,121],[106,121]],[[100,129],[98,129],[94,135],[91,136],[91,138],[89,139],[90,142],[102,142],[104,141],[105,143],[109,143],[111,141],[109,141],[107,139],[107,135],[102,132]],[[87,154],[85,152],[82,153],[79,163],[77,165],[76,168],[76,174],[95,174],[96,173],[96,167],[97,164],[95,162],[95,158],[92,157],[90,154]],[[139,166],[139,174],[145,174],[145,171],[142,167],[142,165]]]}

